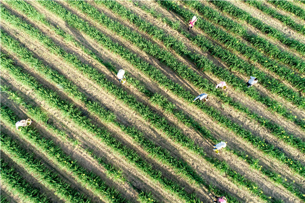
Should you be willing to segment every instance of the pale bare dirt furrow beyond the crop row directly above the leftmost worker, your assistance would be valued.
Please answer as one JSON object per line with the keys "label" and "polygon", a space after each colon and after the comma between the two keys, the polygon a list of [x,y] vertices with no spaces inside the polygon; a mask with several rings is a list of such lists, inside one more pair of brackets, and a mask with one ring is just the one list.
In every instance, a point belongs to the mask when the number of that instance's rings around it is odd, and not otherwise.
{"label": "pale bare dirt furrow beyond the crop row directly above the leftmost worker", "polygon": [[[6,74],[8,77],[9,74]],[[6,78],[6,80],[13,81],[12,78]],[[75,125],[73,122],[71,122],[69,119],[65,118],[60,111],[57,109],[54,109],[53,107],[50,107],[45,103],[45,101],[41,100],[38,96],[35,95],[33,90],[29,90],[24,87],[20,87],[20,85],[14,81],[14,83],[11,83],[14,87],[19,86],[18,88],[20,91],[25,92],[26,95],[35,100],[36,103],[44,108],[46,111],[48,111],[50,114],[54,114],[56,118],[55,126],[58,125],[66,125],[70,129],[75,129],[78,131],[78,134],[74,134],[80,142],[81,146],[86,149],[89,147],[93,150],[95,154],[97,154],[100,157],[105,157],[107,162],[112,163],[113,165],[120,168],[120,170],[123,171],[123,173],[126,175],[129,182],[137,187],[141,188],[144,191],[151,191],[154,195],[156,195],[159,199],[166,199],[168,202],[177,202],[176,197],[169,194],[168,192],[164,191],[164,187],[161,186],[156,181],[152,181],[151,178],[147,177],[147,175],[143,175],[141,172],[138,171],[137,167],[134,166],[134,164],[129,163],[128,160],[126,160],[125,157],[118,154],[117,152],[110,149],[108,146],[104,145],[96,136],[94,136],[92,133],[86,132],[86,130],[81,129],[79,126]],[[23,89],[23,90],[22,90]],[[74,153],[73,153],[74,154]],[[76,156],[75,158],[79,158],[79,156]],[[81,161],[78,160],[78,161]],[[92,166],[93,170],[99,170],[100,167]]]}

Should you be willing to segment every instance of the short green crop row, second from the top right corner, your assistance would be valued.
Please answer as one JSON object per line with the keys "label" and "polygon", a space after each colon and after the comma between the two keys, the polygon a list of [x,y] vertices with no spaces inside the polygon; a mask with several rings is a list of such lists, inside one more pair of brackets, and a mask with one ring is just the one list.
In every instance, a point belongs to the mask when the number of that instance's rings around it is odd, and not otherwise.
{"label": "short green crop row, second from the top right corner", "polygon": [[295,31],[305,35],[305,26],[298,24],[296,22],[294,22],[289,16],[285,16],[280,14],[276,9],[272,9],[271,7],[267,7],[265,6],[262,2],[260,1],[250,1],[247,0],[245,1],[247,4],[254,6],[255,8],[261,10],[262,12],[264,12],[265,14],[270,15],[273,18],[276,18],[278,20],[280,20],[281,22],[283,22],[285,25],[290,26],[292,29],[294,29]]}

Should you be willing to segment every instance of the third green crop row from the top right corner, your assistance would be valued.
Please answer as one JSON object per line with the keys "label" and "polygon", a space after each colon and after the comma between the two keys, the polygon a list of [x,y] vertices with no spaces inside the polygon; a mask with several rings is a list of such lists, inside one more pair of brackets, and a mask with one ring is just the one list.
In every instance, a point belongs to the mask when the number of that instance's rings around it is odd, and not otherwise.
{"label": "third green crop row from the top right corner", "polygon": [[250,25],[254,26],[255,28],[259,29],[261,32],[265,33],[266,35],[279,40],[284,45],[287,45],[291,49],[298,51],[301,54],[305,54],[305,44],[289,38],[283,32],[279,31],[276,28],[267,25],[266,23],[262,22],[259,19],[251,16],[251,14],[239,9],[238,7],[234,6],[229,2],[223,1],[209,1],[210,3],[214,4],[218,9],[222,12],[228,13],[231,16],[238,18],[238,20],[244,20]]}

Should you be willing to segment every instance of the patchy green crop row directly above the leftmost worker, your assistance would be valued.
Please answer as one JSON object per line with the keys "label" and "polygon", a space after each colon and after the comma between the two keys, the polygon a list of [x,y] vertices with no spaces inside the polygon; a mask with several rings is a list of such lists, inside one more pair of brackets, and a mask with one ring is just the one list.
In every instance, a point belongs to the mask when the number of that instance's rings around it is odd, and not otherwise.
{"label": "patchy green crop row directly above the leftmost worker", "polygon": [[[43,125],[45,125],[52,132],[58,134],[59,137],[61,137],[63,140],[68,140],[69,142],[74,143],[75,145],[78,144],[78,140],[69,138],[66,132],[56,128],[48,120],[48,116],[46,112],[44,112],[40,107],[34,107],[31,104],[25,103],[24,98],[20,94],[18,94],[18,92],[11,90],[6,85],[1,86],[1,92],[6,93],[9,96],[8,99],[12,100],[16,105],[18,105],[20,108],[25,110],[26,114],[28,114],[31,118],[33,118],[35,122],[43,123]],[[120,183],[126,184],[126,181],[128,180],[126,180],[126,177],[124,176],[123,172],[120,171],[118,168],[116,168],[114,165],[107,163],[106,158],[97,156],[96,154],[93,153],[92,149],[86,148],[85,151],[91,157],[93,157],[99,164],[101,164],[102,167],[105,168],[107,176],[109,176],[113,180],[119,181]],[[149,202],[151,203],[157,202],[157,200],[155,200],[151,194],[142,191],[139,188],[135,188],[135,189],[139,192],[140,202],[146,202],[145,199],[149,200]]]}

